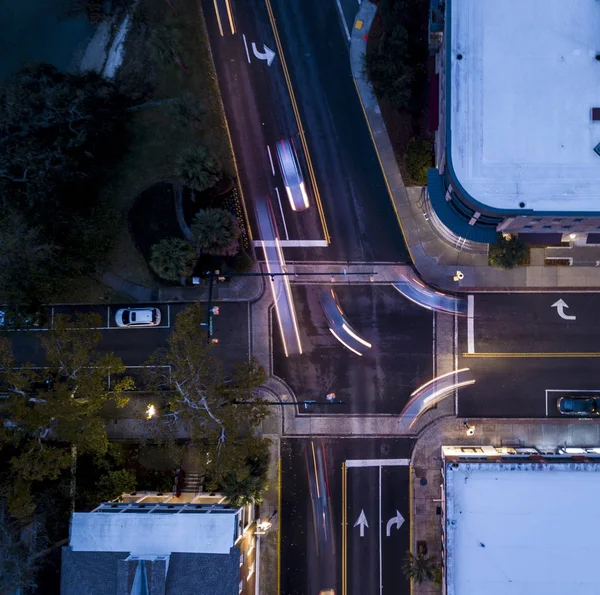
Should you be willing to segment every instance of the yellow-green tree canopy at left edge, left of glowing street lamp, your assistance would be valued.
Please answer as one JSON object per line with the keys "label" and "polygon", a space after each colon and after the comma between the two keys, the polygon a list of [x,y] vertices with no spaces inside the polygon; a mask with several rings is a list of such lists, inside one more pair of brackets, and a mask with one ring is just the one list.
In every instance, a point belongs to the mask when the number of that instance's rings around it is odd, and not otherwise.
{"label": "yellow-green tree canopy at left edge, left of glowing street lamp", "polygon": [[1,485],[14,516],[31,512],[31,484],[57,479],[71,465],[73,447],[79,453],[107,449],[103,408],[124,406],[133,383],[120,358],[96,354],[99,326],[98,314],[75,321],[57,315],[40,340],[43,368],[17,365],[11,342],[0,337]]}

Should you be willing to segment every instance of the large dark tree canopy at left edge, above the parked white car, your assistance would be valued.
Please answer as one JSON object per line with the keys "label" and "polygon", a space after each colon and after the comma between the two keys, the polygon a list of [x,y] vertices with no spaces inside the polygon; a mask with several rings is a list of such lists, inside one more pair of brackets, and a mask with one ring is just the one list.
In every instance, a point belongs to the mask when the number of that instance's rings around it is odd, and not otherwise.
{"label": "large dark tree canopy at left edge, above the parked white car", "polygon": [[[29,64],[0,84],[0,301],[39,305],[95,270],[113,216],[99,181],[126,148],[129,98],[94,72]],[[14,224],[13,224],[14,223]],[[14,266],[27,257],[29,275]]]}

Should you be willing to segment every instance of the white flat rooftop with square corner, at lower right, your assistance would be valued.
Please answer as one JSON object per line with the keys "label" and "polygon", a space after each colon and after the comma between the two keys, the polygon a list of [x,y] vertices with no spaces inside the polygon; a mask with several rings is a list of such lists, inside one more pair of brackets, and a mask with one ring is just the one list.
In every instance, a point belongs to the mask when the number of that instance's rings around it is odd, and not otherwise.
{"label": "white flat rooftop with square corner, at lower right", "polygon": [[597,595],[600,465],[446,465],[448,595]]}

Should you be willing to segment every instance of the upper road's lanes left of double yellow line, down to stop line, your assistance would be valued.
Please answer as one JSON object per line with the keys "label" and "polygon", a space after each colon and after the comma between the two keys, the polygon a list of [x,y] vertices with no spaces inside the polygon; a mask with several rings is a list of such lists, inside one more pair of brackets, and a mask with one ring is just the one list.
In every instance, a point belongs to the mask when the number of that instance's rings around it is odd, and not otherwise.
{"label": "upper road's lanes left of double yellow line, down to stop line", "polygon": [[[225,26],[221,35],[215,11],[221,4],[202,2],[253,235],[264,239],[258,230],[256,204],[269,203],[280,239],[324,240],[267,6],[258,0],[232,2],[236,32],[232,35]],[[270,65],[256,55],[263,55],[265,46],[275,51]],[[282,138],[292,138],[298,152],[311,202],[306,211],[292,211],[286,197],[275,149]]]}

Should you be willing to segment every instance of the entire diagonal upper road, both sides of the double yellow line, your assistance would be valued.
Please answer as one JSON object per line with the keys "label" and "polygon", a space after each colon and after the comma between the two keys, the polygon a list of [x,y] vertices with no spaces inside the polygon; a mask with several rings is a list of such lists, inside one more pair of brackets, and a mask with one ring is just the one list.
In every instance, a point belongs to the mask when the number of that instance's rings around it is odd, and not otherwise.
{"label": "entire diagonal upper road, both sides of the double yellow line", "polygon": [[[318,191],[331,245],[284,248],[286,258],[408,262],[351,77],[348,42],[335,0],[271,0],[280,45],[265,0],[231,4],[234,34],[224,26],[221,35],[215,3],[204,0],[203,8],[253,229],[253,205],[269,197],[281,239],[323,238],[315,204]],[[265,44],[275,51],[270,66],[256,57],[252,43],[259,53]],[[292,212],[282,190],[273,146],[284,137],[295,142],[305,181],[310,183],[312,206],[305,212]]]}

